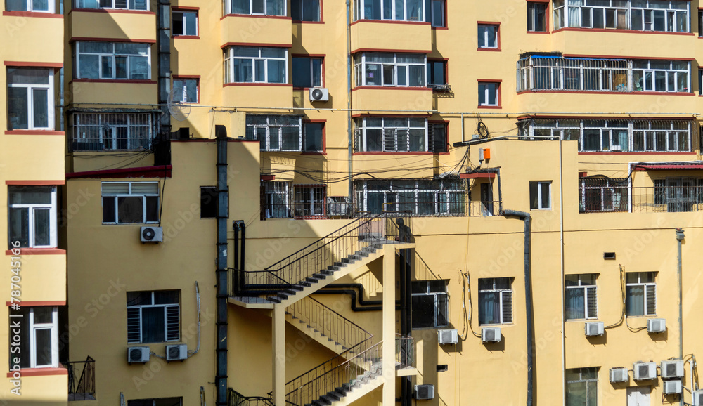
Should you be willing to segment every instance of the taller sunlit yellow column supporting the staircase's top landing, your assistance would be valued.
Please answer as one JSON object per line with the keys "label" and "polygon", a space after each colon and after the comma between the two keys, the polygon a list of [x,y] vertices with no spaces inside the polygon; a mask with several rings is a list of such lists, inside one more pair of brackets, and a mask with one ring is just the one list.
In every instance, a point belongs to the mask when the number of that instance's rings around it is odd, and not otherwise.
{"label": "taller sunlit yellow column supporting the staircase's top landing", "polygon": [[383,247],[383,405],[395,405],[395,248]]}

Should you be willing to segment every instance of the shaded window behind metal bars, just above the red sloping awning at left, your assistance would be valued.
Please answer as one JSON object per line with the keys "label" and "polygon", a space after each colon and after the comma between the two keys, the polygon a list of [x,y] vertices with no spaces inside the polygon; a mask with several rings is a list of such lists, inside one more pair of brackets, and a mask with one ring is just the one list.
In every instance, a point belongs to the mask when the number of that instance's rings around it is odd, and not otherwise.
{"label": "shaded window behind metal bars, just above the red sloping awning at left", "polygon": [[[126,124],[111,124],[113,121],[110,119],[114,114],[125,114],[124,121]],[[97,120],[89,119],[89,116],[97,115]],[[73,143],[98,143],[101,146],[101,150],[112,151],[112,150],[140,150],[149,149],[151,140],[153,140],[155,135],[154,129],[154,117],[150,113],[75,113],[73,114]],[[85,121],[85,122],[84,122]],[[143,124],[146,122],[146,124]],[[86,137],[86,132],[90,129],[97,130],[93,131],[92,134],[98,134],[97,137]],[[127,138],[126,146],[127,148],[117,148],[120,143],[121,138],[118,138],[119,129],[126,129]],[[137,129],[148,129],[148,139],[144,140],[142,138],[136,138],[133,134]],[[84,131],[82,133],[82,131]],[[146,142],[148,141],[148,143]],[[146,146],[144,144],[147,144]],[[112,148],[105,148],[106,144],[110,144]],[[91,149],[88,149],[91,151]],[[77,151],[82,151],[77,149]]]}

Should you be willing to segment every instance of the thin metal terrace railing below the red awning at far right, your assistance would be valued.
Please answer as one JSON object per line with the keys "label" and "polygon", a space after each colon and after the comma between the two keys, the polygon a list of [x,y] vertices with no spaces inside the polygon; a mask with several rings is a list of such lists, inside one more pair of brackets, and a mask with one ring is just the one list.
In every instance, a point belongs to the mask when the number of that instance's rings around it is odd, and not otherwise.
{"label": "thin metal terrace railing below the red awning at far right", "polygon": [[703,211],[703,186],[580,188],[581,213],[682,213]]}

